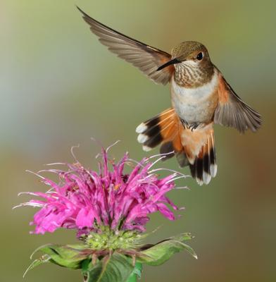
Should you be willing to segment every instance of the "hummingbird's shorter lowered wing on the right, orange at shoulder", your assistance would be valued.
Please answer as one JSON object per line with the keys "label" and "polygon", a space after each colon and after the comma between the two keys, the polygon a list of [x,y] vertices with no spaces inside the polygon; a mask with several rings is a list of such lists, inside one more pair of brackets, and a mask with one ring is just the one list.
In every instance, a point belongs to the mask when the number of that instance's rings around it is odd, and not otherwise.
{"label": "hummingbird's shorter lowered wing on the right, orange at shoulder", "polygon": [[215,109],[214,122],[237,128],[244,133],[250,128],[253,132],[261,126],[261,115],[245,104],[232,90],[225,78],[219,74],[218,106]]}

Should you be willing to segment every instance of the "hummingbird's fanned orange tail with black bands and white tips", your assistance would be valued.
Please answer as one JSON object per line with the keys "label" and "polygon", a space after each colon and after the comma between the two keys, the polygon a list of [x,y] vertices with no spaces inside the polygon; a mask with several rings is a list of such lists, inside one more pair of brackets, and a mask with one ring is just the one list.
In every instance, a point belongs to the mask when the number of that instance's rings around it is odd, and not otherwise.
{"label": "hummingbird's fanned orange tail with black bands and white tips", "polygon": [[215,177],[215,144],[213,124],[191,130],[184,128],[175,110],[170,108],[137,126],[137,140],[144,151],[161,145],[165,161],[175,156],[181,167],[189,166],[199,185],[208,184]]}

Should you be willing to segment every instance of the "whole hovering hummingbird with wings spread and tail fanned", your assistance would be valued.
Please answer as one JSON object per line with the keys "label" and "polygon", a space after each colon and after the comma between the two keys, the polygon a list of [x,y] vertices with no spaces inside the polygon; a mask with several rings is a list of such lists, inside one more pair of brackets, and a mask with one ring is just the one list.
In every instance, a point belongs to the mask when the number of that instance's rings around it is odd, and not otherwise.
{"label": "whole hovering hummingbird with wings spread and tail fanned", "polygon": [[261,115],[234,92],[203,44],[182,42],[168,54],[78,9],[90,30],[111,52],[156,84],[170,83],[170,108],[136,128],[144,151],[160,145],[163,160],[175,156],[180,167],[189,166],[199,185],[210,183],[217,174],[213,125],[233,127],[240,133],[247,129],[255,132],[261,126]]}

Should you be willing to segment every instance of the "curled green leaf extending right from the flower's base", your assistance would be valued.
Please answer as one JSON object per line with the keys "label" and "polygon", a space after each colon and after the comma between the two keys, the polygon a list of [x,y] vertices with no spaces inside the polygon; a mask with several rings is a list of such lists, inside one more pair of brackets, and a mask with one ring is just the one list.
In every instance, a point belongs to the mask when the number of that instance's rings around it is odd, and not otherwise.
{"label": "curled green leaf extending right from the flower's base", "polygon": [[183,233],[163,240],[160,243],[140,252],[139,257],[137,257],[137,262],[149,265],[160,265],[170,259],[172,255],[175,255],[175,253],[182,250],[187,250],[187,252],[197,259],[196,253],[192,247],[183,243],[184,241],[190,239],[192,239],[191,234]]}

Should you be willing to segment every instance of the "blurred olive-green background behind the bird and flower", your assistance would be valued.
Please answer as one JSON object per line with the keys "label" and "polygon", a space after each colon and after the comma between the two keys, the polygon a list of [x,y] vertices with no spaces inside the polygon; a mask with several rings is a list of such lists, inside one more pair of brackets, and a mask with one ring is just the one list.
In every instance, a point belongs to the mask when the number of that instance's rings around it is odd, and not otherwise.
{"label": "blurred olive-green background behind the bird and flower", "polygon": [[[23,281],[30,254],[45,243],[74,243],[73,231],[30,235],[35,209],[12,210],[45,190],[25,169],[78,159],[96,168],[99,146],[122,140],[141,159],[135,127],[170,106],[168,87],[154,85],[109,53],[75,4],[106,25],[170,51],[184,40],[203,42],[234,90],[263,115],[258,133],[215,126],[218,176],[208,186],[182,180],[190,191],[170,197],[186,211],[170,222],[152,216],[150,240],[184,231],[199,255],[175,255],[145,267],[142,281],[276,281],[275,270],[275,1],[2,0],[0,4],[1,281]],[[154,154],[158,152],[154,150]],[[159,166],[178,169],[175,159]],[[185,173],[189,171],[185,170]],[[81,281],[78,271],[44,265],[25,281]]]}

